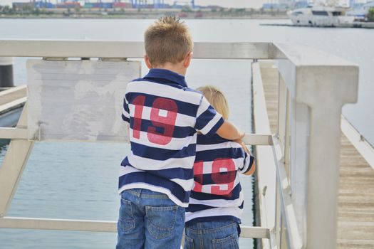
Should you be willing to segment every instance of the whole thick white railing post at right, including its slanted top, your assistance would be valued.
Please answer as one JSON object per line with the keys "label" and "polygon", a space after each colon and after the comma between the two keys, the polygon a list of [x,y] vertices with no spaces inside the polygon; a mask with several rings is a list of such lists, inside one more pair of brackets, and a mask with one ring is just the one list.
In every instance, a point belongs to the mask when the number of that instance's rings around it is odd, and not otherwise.
{"label": "whole thick white railing post at right, including its slanted top", "polygon": [[341,109],[357,102],[358,66],[305,46],[276,44],[291,92],[291,199],[303,248],[336,248]]}

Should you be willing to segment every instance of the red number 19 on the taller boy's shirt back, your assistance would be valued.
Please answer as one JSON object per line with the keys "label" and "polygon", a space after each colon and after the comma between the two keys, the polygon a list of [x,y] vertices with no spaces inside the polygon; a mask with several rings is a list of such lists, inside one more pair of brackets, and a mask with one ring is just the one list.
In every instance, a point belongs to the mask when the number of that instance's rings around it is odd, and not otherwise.
{"label": "red number 19 on the taller boy's shirt back", "polygon": [[[145,103],[145,96],[139,95],[135,97],[133,105],[135,105],[133,137],[140,139],[140,130],[142,126],[142,112]],[[165,111],[166,115],[160,115],[160,111]],[[172,141],[174,133],[175,120],[177,120],[178,106],[174,100],[164,97],[157,97],[152,103],[150,112],[150,121],[153,127],[147,129],[147,138],[154,144],[169,144]],[[157,132],[157,127],[163,129],[163,132]]]}

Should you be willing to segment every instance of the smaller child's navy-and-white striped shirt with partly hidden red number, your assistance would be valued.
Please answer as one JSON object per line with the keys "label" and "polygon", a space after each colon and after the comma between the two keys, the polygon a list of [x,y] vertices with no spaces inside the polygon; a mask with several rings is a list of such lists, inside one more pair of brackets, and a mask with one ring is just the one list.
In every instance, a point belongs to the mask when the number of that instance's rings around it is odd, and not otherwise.
{"label": "smaller child's navy-and-white striped shirt with partly hidden red number", "polygon": [[219,137],[197,135],[194,188],[186,208],[186,225],[204,221],[240,221],[244,196],[239,172],[246,173],[254,157],[240,144]]}

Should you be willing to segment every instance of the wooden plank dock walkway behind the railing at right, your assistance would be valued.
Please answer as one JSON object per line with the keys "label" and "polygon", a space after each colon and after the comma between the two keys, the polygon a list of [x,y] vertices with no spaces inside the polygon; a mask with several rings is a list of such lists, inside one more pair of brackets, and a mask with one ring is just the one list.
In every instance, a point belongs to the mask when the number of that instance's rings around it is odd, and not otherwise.
{"label": "wooden plank dock walkway behind the railing at right", "polygon": [[[271,133],[274,134],[278,118],[279,73],[271,61],[261,61],[260,70]],[[339,177],[338,248],[374,248],[374,169],[343,133]]]}

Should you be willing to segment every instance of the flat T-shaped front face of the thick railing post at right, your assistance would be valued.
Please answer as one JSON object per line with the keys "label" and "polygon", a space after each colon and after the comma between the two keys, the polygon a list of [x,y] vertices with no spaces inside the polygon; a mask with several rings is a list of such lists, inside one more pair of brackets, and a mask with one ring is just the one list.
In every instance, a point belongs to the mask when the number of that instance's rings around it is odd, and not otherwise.
{"label": "flat T-shaped front face of the thick railing post at right", "polygon": [[357,67],[297,70],[296,102],[311,108],[306,248],[336,248],[341,108],[356,102],[357,93]]}

